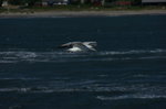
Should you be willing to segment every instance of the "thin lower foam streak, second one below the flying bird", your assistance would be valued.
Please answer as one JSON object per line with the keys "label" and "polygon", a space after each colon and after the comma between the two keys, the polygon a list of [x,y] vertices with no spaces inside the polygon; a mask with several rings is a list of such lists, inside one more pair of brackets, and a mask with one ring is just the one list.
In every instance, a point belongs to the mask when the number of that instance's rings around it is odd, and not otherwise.
{"label": "thin lower foam streak, second one below the flying bird", "polygon": [[14,64],[14,63],[19,63],[19,62],[28,62],[28,63],[70,63],[70,62],[117,62],[117,61],[134,61],[134,59],[165,59],[166,56],[157,56],[157,57],[124,57],[124,58],[72,58],[72,57],[65,57],[65,58],[58,58],[58,57],[43,57],[43,58],[31,58],[31,57],[27,57],[27,58],[15,58],[13,59],[2,59],[0,61],[0,63],[2,64]]}

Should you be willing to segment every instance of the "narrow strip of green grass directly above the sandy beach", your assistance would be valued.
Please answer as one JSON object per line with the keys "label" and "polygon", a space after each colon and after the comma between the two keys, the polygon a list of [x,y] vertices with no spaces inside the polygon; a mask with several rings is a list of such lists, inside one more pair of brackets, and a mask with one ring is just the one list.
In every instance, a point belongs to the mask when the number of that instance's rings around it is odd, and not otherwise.
{"label": "narrow strip of green grass directly above the sandy beach", "polygon": [[29,8],[0,8],[0,13],[19,12],[33,13],[45,11],[142,11],[166,10],[166,6],[127,6],[127,7],[94,7],[94,6],[54,6],[54,7],[29,7]]}

